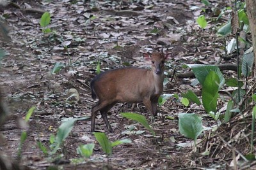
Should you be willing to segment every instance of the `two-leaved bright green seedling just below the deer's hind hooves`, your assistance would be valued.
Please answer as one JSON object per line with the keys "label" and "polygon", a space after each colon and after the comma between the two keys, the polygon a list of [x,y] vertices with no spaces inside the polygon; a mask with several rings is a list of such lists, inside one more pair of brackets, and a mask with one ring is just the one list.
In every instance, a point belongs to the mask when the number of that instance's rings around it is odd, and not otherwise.
{"label": "two-leaved bright green seedling just below the deer's hind hooves", "polygon": [[112,155],[112,149],[114,146],[132,142],[131,139],[122,139],[111,143],[105,133],[93,132],[93,134],[99,142],[103,152],[106,153],[107,155]]}

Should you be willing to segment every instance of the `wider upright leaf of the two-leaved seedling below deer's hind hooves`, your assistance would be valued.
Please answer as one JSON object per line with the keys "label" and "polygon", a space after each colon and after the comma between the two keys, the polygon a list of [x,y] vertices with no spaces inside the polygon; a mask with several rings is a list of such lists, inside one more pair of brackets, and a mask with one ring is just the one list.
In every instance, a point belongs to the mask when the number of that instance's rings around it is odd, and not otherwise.
{"label": "wider upright leaf of the two-leaved seedling below deer's hind hooves", "polygon": [[93,132],[93,134],[99,142],[103,152],[107,155],[112,155],[112,146],[106,134],[102,132]]}

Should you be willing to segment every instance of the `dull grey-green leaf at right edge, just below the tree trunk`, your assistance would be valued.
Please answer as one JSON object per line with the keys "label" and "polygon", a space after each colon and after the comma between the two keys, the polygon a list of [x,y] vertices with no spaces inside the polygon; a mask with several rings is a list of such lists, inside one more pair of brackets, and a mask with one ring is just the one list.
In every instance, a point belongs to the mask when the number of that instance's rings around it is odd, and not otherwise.
{"label": "dull grey-green leaf at right edge, just below the tree trunk", "polygon": [[243,55],[242,74],[244,76],[250,76],[250,73],[252,73],[253,62],[254,62],[253,52],[246,53]]}

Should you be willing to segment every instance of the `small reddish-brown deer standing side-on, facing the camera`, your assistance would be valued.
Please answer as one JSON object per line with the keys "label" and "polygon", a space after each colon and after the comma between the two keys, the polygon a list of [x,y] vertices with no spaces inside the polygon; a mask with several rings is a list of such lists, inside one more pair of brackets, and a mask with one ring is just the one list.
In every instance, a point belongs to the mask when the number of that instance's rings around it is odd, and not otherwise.
{"label": "small reddish-brown deer standing side-on, facing the camera", "polygon": [[91,81],[92,98],[99,98],[92,107],[91,131],[95,129],[95,116],[98,111],[107,125],[109,132],[113,132],[107,112],[116,103],[143,103],[152,116],[157,115],[157,101],[163,92],[164,62],[171,53],[161,52],[143,53],[145,60],[151,60],[152,69],[138,67],[124,67],[105,71],[95,76]]}

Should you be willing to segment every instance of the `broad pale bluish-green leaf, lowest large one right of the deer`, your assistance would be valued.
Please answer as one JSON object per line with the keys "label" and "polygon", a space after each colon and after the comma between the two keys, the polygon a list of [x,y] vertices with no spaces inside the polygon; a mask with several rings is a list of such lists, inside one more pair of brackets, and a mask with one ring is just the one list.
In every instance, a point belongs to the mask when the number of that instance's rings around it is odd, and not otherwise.
{"label": "broad pale bluish-green leaf, lowest large one right of the deer", "polygon": [[194,139],[204,131],[202,126],[202,118],[194,113],[179,113],[179,132],[186,138]]}

